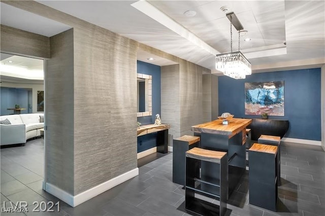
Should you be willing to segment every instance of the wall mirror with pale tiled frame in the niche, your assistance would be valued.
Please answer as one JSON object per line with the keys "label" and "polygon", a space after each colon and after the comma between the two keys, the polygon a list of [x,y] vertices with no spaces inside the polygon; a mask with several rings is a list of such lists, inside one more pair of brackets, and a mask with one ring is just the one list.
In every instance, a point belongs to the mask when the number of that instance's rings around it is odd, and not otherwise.
{"label": "wall mirror with pale tiled frame in the niche", "polygon": [[152,76],[137,74],[137,117],[152,115]]}

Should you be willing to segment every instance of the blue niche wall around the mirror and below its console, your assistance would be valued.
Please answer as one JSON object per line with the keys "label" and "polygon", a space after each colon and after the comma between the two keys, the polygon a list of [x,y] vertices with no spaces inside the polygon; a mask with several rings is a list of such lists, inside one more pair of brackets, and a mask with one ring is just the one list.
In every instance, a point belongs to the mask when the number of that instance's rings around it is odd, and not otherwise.
{"label": "blue niche wall around the mirror and below its console", "polygon": [[[153,124],[155,115],[161,114],[160,66],[137,61],[137,73],[152,76],[152,116],[138,117],[138,122],[143,125]],[[156,133],[138,136],[138,153],[153,147],[156,147]]]}

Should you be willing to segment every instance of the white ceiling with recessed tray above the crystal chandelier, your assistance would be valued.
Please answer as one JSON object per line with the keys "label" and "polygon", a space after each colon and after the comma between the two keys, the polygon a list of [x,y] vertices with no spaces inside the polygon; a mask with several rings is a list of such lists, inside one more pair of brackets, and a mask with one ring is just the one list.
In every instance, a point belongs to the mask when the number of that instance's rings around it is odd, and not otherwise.
{"label": "white ceiling with recessed tray above the crystal chandelier", "polygon": [[[324,1],[38,2],[210,68],[212,73],[217,73],[214,70],[215,54],[230,51],[230,22],[220,10],[222,6],[228,6],[230,11],[235,12],[244,29],[248,30],[240,43],[242,52],[252,63],[255,72],[297,64],[300,67],[311,67],[325,63]],[[20,17],[14,11],[20,9],[10,7],[1,3],[2,24],[20,29],[29,26],[29,31],[47,36],[58,33],[50,33],[49,29],[44,28],[51,20],[28,12],[19,12],[24,14]],[[10,13],[6,12],[8,8]],[[184,16],[183,13],[188,10],[196,11],[197,15]],[[35,16],[38,16],[37,21]],[[52,25],[51,30],[63,31],[63,27],[69,28],[61,25]],[[238,34],[235,28],[233,35],[233,49],[237,51]],[[246,37],[252,40],[244,42]],[[146,55],[139,54],[139,60],[145,61]],[[159,65],[158,60],[150,63]]]}

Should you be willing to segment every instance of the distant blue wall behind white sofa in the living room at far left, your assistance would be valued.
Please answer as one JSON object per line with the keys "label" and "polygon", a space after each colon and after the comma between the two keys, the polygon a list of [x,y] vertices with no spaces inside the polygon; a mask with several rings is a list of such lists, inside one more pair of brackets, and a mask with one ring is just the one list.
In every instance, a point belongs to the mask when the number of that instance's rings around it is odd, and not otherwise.
{"label": "distant blue wall behind white sofa in the living room at far left", "polygon": [[15,108],[15,104],[20,105],[20,108],[26,108],[22,110],[21,114],[28,113],[28,90],[19,88],[8,88],[1,87],[0,89],[1,98],[1,115],[12,115],[13,110],[7,110],[8,108]]}

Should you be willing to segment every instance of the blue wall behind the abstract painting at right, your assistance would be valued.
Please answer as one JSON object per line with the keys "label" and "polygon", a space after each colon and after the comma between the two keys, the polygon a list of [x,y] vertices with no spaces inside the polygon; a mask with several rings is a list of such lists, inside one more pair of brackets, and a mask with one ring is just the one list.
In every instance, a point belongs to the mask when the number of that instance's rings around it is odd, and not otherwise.
{"label": "blue wall behind the abstract painting at right", "polygon": [[285,137],[321,140],[320,68],[252,74],[244,80],[219,77],[219,116],[231,113],[235,118],[261,118],[245,115],[245,82],[270,81],[284,81],[284,116],[269,118],[289,120]]}

